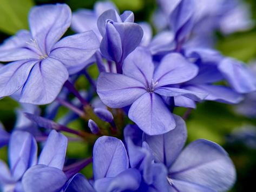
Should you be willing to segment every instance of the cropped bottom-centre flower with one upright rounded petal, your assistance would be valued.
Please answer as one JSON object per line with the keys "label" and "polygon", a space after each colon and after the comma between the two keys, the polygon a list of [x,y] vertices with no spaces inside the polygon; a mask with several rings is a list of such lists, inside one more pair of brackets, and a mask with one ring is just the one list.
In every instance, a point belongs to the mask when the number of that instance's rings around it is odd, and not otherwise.
{"label": "cropped bottom-centre flower with one upright rounded petal", "polygon": [[115,137],[102,136],[95,142],[93,170],[93,186],[86,177],[76,174],[68,182],[65,191],[135,191],[140,186],[140,172],[129,168],[126,148]]}

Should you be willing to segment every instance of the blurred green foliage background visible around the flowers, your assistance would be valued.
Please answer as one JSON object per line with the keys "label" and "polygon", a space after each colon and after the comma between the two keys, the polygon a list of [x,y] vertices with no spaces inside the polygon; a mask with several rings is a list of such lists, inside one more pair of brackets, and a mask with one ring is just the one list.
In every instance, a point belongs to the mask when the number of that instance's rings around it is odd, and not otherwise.
{"label": "blurred green foliage background visible around the flowers", "polygon": [[[207,0],[208,1],[208,0]],[[209,0],[211,1],[211,0]],[[29,9],[35,4],[45,3],[67,3],[74,11],[78,8],[92,9],[94,0],[0,0],[0,43],[19,29],[28,29],[27,15]],[[150,22],[154,10],[155,0],[113,0],[120,11],[132,10],[135,20]],[[256,1],[246,0],[251,6],[252,17],[256,22]],[[71,30],[69,31],[71,33]],[[256,27],[249,31],[237,32],[232,35],[223,36],[216,33],[218,42],[216,48],[227,56],[232,56],[244,62],[256,59]],[[15,123],[15,109],[18,104],[10,98],[0,100],[0,121],[5,128],[11,130]],[[255,109],[256,110],[256,109]],[[185,109],[175,109],[176,114],[182,115]],[[245,142],[227,142],[230,134],[241,127],[256,126],[256,118],[247,118],[234,112],[234,107],[216,102],[204,102],[198,104],[187,120],[188,142],[197,138],[221,144],[231,156],[237,168],[237,183],[231,191],[254,191],[254,180],[256,173],[256,147],[250,147]],[[73,122],[69,127],[77,128],[81,123]],[[253,127],[255,131],[255,127]],[[255,138],[254,138],[255,139]],[[0,158],[6,160],[6,148],[0,150]],[[68,154],[71,157],[84,157],[88,154],[88,145],[71,144]],[[206,154],[207,155],[207,154]],[[86,171],[88,172],[88,171]]]}

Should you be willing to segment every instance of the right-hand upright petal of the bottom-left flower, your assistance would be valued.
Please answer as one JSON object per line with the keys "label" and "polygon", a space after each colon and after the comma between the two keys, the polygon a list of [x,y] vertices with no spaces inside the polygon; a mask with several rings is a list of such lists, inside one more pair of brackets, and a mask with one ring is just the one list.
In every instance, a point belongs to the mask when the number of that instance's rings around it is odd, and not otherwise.
{"label": "right-hand upright petal of the bottom-left flower", "polygon": [[57,133],[55,130],[52,130],[40,154],[38,164],[44,164],[49,167],[55,167],[62,170],[65,161],[67,145],[67,137],[61,133]]}

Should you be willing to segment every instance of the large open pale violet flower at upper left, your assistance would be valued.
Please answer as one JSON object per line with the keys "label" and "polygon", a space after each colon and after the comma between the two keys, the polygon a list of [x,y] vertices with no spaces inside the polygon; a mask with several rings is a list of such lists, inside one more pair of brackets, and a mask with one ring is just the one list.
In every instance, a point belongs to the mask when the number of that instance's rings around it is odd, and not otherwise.
{"label": "large open pale violet flower at upper left", "polygon": [[66,4],[32,8],[31,32],[21,30],[0,47],[0,61],[14,61],[0,68],[0,97],[15,95],[19,102],[32,104],[54,101],[69,74],[82,69],[77,64],[99,49],[93,31],[58,41],[70,23],[71,10]]}

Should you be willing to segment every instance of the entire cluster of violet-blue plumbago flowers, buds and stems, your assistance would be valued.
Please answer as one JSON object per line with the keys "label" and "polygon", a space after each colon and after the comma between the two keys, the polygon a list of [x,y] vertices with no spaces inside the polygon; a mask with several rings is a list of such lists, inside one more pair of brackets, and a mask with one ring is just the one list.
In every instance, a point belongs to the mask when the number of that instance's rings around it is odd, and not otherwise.
{"label": "entire cluster of violet-blue plumbago flowers, buds and stems", "polygon": [[[9,148],[9,166],[0,160],[0,189],[205,192],[233,186],[226,151],[204,139],[184,147],[186,116],[173,110],[189,111],[205,100],[237,104],[256,90],[252,71],[211,43],[215,30],[230,33],[252,23],[245,14],[229,22],[241,12],[238,1],[158,3],[155,36],[148,23],[135,23],[133,12],[120,14],[111,2],[73,13],[55,4],[32,8],[30,31],[0,45],[0,97],[21,104],[12,132],[0,126],[0,147]],[[70,26],[77,34],[61,38]],[[88,72],[94,66],[96,80]],[[81,77],[88,86],[78,86]],[[37,105],[44,104],[40,116]],[[69,111],[57,118],[61,107]],[[74,120],[86,122],[84,129],[69,128]],[[81,141],[93,148],[92,157],[66,156],[68,143]],[[93,177],[86,178],[80,171],[90,163]]]}

